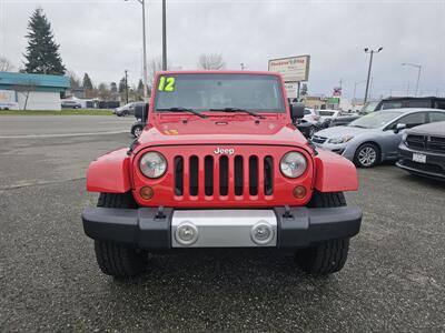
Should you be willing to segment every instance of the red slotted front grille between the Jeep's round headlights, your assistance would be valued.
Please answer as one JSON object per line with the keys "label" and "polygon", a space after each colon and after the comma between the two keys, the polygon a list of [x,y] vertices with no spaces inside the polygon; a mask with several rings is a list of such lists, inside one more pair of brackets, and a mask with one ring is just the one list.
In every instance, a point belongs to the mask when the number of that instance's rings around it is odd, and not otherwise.
{"label": "red slotted front grille between the Jeep's round headlights", "polygon": [[255,200],[274,193],[274,160],[269,155],[177,155],[174,161],[176,196],[204,194],[224,200],[247,195]]}

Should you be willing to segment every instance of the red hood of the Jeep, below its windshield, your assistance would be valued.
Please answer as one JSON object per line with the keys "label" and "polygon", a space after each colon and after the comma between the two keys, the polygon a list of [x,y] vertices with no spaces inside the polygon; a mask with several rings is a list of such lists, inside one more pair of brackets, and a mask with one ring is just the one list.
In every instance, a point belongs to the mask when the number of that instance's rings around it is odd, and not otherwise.
{"label": "red hood of the Jeep, below its windshield", "polygon": [[279,119],[207,118],[162,121],[147,125],[141,144],[280,144],[304,145],[307,140],[294,125]]}

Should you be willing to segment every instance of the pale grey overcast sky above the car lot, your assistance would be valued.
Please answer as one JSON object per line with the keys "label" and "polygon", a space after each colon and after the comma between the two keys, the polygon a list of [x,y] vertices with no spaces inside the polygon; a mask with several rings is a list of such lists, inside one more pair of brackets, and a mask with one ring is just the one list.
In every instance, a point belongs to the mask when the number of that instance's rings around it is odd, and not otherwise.
{"label": "pale grey overcast sky above the car lot", "polygon": [[[161,1],[146,0],[148,59],[161,54]],[[141,77],[141,6],[137,0],[0,0],[0,54],[22,67],[29,16],[41,7],[66,67],[93,83]],[[373,65],[373,97],[414,92],[445,95],[445,0],[273,1],[167,0],[168,59],[195,69],[200,53],[220,52],[228,69],[267,70],[267,61],[310,54],[309,93],[344,94],[366,79],[365,47],[384,50]],[[365,84],[357,85],[357,97]]]}

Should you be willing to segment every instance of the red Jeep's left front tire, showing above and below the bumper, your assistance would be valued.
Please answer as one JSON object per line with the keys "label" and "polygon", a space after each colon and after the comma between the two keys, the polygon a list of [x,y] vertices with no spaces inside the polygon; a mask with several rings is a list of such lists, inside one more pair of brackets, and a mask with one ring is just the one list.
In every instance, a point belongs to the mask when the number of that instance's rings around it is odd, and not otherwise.
{"label": "red Jeep's left front tire, showing above and below the bumper", "polygon": [[[100,193],[98,206],[135,209],[131,193]],[[147,268],[147,252],[122,244],[95,241],[96,259],[100,270],[111,276],[128,278],[142,273]]]}

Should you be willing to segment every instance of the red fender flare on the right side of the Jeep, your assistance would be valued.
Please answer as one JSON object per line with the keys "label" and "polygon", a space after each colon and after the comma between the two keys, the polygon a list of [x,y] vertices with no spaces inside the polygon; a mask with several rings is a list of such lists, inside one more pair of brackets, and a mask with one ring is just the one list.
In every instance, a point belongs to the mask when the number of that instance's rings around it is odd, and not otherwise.
{"label": "red fender flare on the right side of the Jeep", "polygon": [[315,189],[319,192],[358,190],[357,169],[349,160],[326,150],[318,150],[315,161]]}

